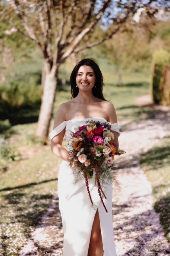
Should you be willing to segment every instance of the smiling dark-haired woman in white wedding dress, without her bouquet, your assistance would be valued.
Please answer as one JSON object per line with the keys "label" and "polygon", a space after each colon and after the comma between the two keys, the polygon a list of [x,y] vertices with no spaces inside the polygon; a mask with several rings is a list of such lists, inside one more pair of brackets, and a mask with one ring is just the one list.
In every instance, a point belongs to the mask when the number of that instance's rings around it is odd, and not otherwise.
{"label": "smiling dark-haired woman in white wedding dress, without her bouquet", "polygon": [[[64,230],[64,256],[116,256],[112,184],[107,184],[105,188],[107,199],[104,199],[104,203],[108,212],[105,212],[102,204],[91,207],[85,180],[75,182],[73,170],[68,166],[68,151],[62,146],[64,135],[68,141],[71,131],[75,132],[74,128],[89,119],[113,124],[114,143],[118,146],[116,112],[112,103],[103,96],[103,76],[94,59],[79,61],[71,73],[70,82],[72,99],[59,106],[54,130],[50,133],[51,150],[63,160],[59,168],[58,195]],[[89,184],[92,191],[95,188],[94,177]]]}

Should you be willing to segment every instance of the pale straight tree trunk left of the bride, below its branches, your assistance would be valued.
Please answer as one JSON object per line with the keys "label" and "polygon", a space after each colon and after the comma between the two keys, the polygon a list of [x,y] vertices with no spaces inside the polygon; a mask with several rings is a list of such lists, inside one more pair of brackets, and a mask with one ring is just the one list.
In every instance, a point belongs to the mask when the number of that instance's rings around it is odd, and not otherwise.
{"label": "pale straight tree trunk left of the bride, below its branches", "polygon": [[54,99],[55,99],[55,92],[57,87],[57,75],[58,75],[58,68],[54,74],[54,72],[47,73],[45,76],[45,85],[42,94],[42,102],[40,108],[40,115],[38,119],[38,126],[36,131],[36,136],[41,137],[45,140],[48,136]]}

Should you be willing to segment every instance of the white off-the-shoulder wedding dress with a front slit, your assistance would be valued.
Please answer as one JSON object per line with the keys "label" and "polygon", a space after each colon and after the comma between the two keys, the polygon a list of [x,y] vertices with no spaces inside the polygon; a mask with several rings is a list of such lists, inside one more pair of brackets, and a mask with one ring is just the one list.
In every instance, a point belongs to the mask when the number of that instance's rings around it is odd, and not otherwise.
{"label": "white off-the-shoulder wedding dress with a front slit", "polygon": [[[102,117],[71,119],[57,126],[49,137],[52,139],[65,129],[67,142],[71,138],[74,128],[84,125],[88,120],[107,122]],[[112,124],[112,131],[119,133],[119,125]],[[76,181],[77,180],[77,181]],[[62,216],[64,230],[64,256],[87,256],[91,237],[91,229],[96,210],[99,211],[100,227],[104,256],[116,256],[113,238],[112,221],[112,183],[106,184],[104,189],[107,199],[103,199],[108,212],[105,211],[94,184],[94,175],[89,180],[89,189],[94,202],[92,207],[85,186],[85,179],[77,179],[76,173],[68,166],[68,162],[62,161],[58,175],[59,209]]]}

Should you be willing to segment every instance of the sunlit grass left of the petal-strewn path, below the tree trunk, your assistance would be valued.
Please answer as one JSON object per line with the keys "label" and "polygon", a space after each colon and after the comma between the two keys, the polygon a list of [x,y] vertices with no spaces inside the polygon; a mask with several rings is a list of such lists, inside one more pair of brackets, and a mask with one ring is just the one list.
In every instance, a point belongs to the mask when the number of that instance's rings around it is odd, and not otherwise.
{"label": "sunlit grass left of the petal-strewn path, below the tree trunk", "polygon": [[20,149],[22,160],[12,162],[0,175],[0,253],[17,256],[51,204],[61,161],[49,145],[27,142],[25,136],[35,130],[35,124],[13,129],[10,141]]}

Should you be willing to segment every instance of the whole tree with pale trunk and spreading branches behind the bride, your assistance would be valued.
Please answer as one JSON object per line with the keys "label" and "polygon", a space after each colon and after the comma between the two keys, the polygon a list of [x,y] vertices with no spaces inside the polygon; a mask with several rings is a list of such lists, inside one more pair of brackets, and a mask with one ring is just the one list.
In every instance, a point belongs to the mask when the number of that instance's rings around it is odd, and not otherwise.
{"label": "whole tree with pale trunk and spreading branches behind the bride", "polygon": [[[45,138],[48,135],[52,116],[59,66],[72,53],[93,47],[111,38],[125,23],[127,17],[135,13],[143,4],[139,0],[2,2],[3,15],[13,27],[34,40],[42,54],[43,94],[36,134]],[[145,0],[145,5],[146,2],[149,6],[155,1]],[[105,27],[106,31],[102,39],[93,37],[93,31],[98,23],[107,23],[107,26],[110,26],[109,30]]]}

